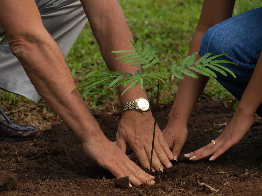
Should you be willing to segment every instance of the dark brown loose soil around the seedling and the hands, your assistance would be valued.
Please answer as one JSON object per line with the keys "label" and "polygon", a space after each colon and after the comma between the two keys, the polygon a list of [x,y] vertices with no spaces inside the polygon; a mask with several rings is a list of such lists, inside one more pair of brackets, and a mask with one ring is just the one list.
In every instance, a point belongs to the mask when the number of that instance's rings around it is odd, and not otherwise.
{"label": "dark brown loose soil around the seedling and the hands", "polygon": [[[170,107],[162,106],[159,112],[161,129],[165,127]],[[114,141],[120,114],[93,114],[106,136]],[[233,111],[223,102],[198,102],[189,120],[188,140],[181,155],[215,139],[232,115]],[[0,190],[5,189],[0,195],[171,196],[212,193],[199,182],[219,189],[212,195],[262,195],[261,129],[262,121],[257,118],[241,142],[214,162],[208,158],[192,162],[181,156],[171,169],[154,173],[156,186],[120,189],[116,188],[109,172],[85,155],[74,133],[64,124],[57,124],[43,131],[35,141],[0,142]]]}

